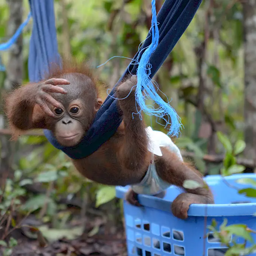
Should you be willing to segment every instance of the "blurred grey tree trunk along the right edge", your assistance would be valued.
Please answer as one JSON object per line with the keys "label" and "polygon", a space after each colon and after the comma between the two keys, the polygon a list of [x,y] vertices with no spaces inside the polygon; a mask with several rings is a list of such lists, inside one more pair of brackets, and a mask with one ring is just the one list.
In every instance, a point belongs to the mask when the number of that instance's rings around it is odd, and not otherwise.
{"label": "blurred grey tree trunk along the right edge", "polygon": [[244,137],[245,155],[256,159],[256,0],[243,5],[244,12]]}

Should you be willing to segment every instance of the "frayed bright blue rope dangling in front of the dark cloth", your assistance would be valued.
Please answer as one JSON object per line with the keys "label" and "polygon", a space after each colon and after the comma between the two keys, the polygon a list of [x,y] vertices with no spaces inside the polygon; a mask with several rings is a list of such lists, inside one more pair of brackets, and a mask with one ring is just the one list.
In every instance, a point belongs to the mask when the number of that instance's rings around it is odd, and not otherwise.
{"label": "frayed bright blue rope dangling in front of the dark cloth", "polygon": [[[143,111],[147,115],[151,115],[151,116],[154,115],[157,117],[157,121],[156,121],[157,123],[159,123],[158,118],[161,118],[166,122],[166,125],[164,127],[167,127],[168,125],[170,125],[169,131],[168,131],[169,136],[178,136],[180,129],[183,127],[181,123],[181,118],[177,115],[175,110],[170,106],[169,104],[170,101],[168,100],[167,96],[163,93],[163,95],[166,96],[168,103],[166,103],[158,95],[157,92],[161,92],[161,91],[157,83],[155,81],[152,82],[152,80],[150,79],[151,64],[149,63],[149,59],[151,54],[157,48],[158,40],[159,40],[159,30],[157,26],[158,24],[157,24],[157,12],[155,8],[155,0],[152,0],[151,4],[152,4],[152,20],[151,20],[150,32],[152,34],[152,42],[148,47],[146,47],[146,49],[141,49],[141,45],[142,45],[141,43],[139,46],[138,57],[136,59],[132,59],[132,62],[130,63],[130,65],[136,65],[136,64],[138,65],[137,85],[135,85],[137,86],[135,90],[135,101],[136,101],[137,113],[132,113],[132,118],[134,118],[134,115],[139,115],[140,119],[142,119],[141,111]],[[145,51],[141,55],[141,52],[143,50]],[[140,55],[141,55],[141,58],[140,58]],[[119,57],[119,56],[114,56],[114,57]],[[110,59],[113,59],[114,57]],[[104,64],[106,64],[108,61],[106,61]],[[157,87],[157,89],[155,89],[154,85]],[[131,92],[132,92],[132,89],[130,93]],[[123,99],[126,99],[130,95],[130,93]],[[111,97],[116,99],[113,96]],[[158,107],[155,108],[154,106],[146,105],[147,99],[153,100],[158,105]],[[140,107],[140,110],[138,110],[137,106]]]}

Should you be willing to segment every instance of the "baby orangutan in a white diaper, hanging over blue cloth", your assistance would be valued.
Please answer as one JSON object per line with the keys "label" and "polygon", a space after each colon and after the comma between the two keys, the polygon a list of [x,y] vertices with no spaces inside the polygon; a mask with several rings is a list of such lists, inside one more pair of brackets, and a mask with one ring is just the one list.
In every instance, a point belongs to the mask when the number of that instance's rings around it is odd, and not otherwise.
{"label": "baby orangutan in a white diaper, hanging over blue cloth", "polygon": [[[14,137],[29,129],[49,129],[64,146],[75,146],[81,141],[102,100],[98,98],[93,73],[83,65],[70,65],[64,63],[62,69],[53,68],[45,81],[27,84],[9,93],[5,111]],[[160,152],[150,152],[149,130],[139,115],[132,119],[132,113],[137,113],[133,87],[136,81],[136,76],[132,76],[116,88],[115,97],[120,99],[123,122],[115,134],[88,157],[71,160],[90,180],[114,186],[132,185],[126,199],[140,206],[137,195],[141,191],[163,196],[164,189],[171,184],[182,188],[185,180],[204,183],[200,173],[183,162],[167,135],[164,135],[167,138],[160,136],[166,140],[158,147]],[[176,152],[171,150],[173,146]],[[141,190],[141,186],[147,191]],[[214,203],[211,191],[205,187],[186,189],[172,203],[172,213],[186,219],[189,205],[193,203]]]}

